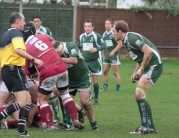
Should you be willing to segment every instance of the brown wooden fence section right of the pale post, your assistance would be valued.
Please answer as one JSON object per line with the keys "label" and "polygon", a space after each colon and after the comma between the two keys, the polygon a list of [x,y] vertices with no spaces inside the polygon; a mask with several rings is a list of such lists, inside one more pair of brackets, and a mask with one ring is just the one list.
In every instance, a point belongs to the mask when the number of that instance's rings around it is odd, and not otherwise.
{"label": "brown wooden fence section right of the pale post", "polygon": [[[130,31],[141,33],[149,38],[159,49],[163,58],[179,59],[179,17],[169,15],[167,11],[133,12],[123,9],[83,8],[77,10],[77,35],[84,32],[83,22],[92,19],[95,23],[94,30],[102,34],[105,30],[106,19],[125,20],[129,24]],[[149,15],[152,17],[149,18]],[[125,50],[121,50],[121,56],[127,57]]]}

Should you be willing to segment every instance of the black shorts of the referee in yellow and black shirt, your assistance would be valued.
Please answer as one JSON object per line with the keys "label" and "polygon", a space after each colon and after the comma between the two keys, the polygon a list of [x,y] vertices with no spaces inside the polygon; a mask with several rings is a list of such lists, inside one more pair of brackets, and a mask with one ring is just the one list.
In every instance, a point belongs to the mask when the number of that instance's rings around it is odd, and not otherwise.
{"label": "black shorts of the referee in yellow and black shirt", "polygon": [[27,80],[24,72],[19,66],[4,66],[1,70],[2,79],[9,92],[27,90]]}

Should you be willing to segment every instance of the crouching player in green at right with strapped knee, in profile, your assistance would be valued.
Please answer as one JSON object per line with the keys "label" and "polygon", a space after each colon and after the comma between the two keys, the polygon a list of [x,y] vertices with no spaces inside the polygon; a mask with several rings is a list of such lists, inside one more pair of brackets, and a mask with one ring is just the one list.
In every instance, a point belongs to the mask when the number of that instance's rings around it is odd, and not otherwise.
{"label": "crouching player in green at right with strapped knee, in profile", "polygon": [[141,34],[129,32],[128,24],[123,20],[115,23],[113,36],[116,41],[123,41],[130,57],[137,63],[134,73],[131,76],[131,81],[137,82],[135,99],[139,108],[141,126],[130,133],[157,133],[151,107],[146,100],[146,96],[163,71],[160,53],[149,39]]}

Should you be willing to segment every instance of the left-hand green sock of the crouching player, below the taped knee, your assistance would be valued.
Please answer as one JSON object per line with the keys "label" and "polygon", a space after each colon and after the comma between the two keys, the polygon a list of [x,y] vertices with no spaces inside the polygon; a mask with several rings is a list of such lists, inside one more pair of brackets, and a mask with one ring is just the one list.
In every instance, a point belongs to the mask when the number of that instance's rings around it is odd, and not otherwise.
{"label": "left-hand green sock of the crouching player, below the taped knee", "polygon": [[145,99],[136,100],[139,108],[139,113],[141,117],[141,125],[147,127],[147,108]]}

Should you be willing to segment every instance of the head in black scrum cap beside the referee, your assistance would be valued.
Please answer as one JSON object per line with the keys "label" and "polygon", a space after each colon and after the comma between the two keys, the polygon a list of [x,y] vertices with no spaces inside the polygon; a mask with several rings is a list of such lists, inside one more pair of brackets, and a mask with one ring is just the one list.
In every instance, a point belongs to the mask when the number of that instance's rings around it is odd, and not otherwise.
{"label": "head in black scrum cap beside the referee", "polygon": [[29,36],[35,35],[35,33],[36,30],[34,24],[31,22],[26,23],[26,25],[24,26],[24,30],[22,31],[24,41],[26,41]]}

